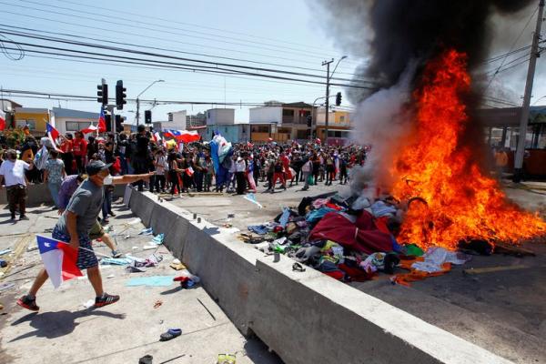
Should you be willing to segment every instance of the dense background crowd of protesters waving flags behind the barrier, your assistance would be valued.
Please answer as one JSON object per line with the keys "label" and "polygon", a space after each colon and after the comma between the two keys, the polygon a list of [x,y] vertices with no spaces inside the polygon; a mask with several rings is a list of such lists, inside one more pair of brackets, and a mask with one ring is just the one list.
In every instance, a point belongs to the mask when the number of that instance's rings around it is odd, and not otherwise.
{"label": "dense background crowd of protesters waving flags behind the barrier", "polygon": [[[109,165],[112,176],[153,173],[149,182],[139,180],[136,187],[152,193],[179,196],[187,192],[227,192],[245,194],[258,192],[258,184],[264,183],[263,192],[286,190],[287,187],[302,186],[303,190],[324,183],[331,186],[348,183],[350,168],[362,165],[366,160],[366,147],[325,147],[319,140],[298,144],[268,142],[262,145],[251,143],[234,144],[221,166],[227,171],[219,177],[218,165],[214,163],[208,142],[179,143],[177,140],[161,140],[154,137],[145,126],[137,132],[108,133],[104,136],[85,136],[81,132],[66,133],[55,141],[48,137],[36,140],[27,135],[23,143],[8,148],[2,144],[3,160],[20,160],[24,178],[17,181],[21,186],[8,192],[12,218],[15,210],[21,211],[25,201],[25,182],[47,184],[56,208],[63,208],[61,187],[66,177],[79,176],[85,179],[86,165],[100,160]],[[34,162],[33,165],[26,162]],[[102,207],[102,222],[115,216],[112,207],[114,187],[106,185]]]}

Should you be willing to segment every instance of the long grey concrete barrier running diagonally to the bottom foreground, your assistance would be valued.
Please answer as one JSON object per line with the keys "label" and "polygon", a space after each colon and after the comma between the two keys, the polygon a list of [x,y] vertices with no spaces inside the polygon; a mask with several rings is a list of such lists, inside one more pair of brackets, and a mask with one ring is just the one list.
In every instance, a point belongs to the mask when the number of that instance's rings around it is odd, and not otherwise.
{"label": "long grey concrete barrier running diagonally to the bottom foreground", "polygon": [[[129,207],[166,234],[165,245],[201,278],[243,334],[287,363],[508,363],[314,269],[292,271],[188,211],[132,191]],[[149,224],[149,225],[148,225]]]}

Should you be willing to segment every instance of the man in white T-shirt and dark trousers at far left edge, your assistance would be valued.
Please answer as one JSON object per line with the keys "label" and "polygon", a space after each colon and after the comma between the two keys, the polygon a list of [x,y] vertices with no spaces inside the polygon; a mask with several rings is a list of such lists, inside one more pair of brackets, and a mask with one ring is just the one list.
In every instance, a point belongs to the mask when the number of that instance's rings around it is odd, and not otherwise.
{"label": "man in white T-shirt and dark trousers at far left edge", "polygon": [[26,181],[25,170],[34,168],[34,162],[29,159],[26,163],[17,159],[17,152],[14,149],[8,149],[5,152],[5,161],[0,166],[0,188],[5,181],[5,190],[7,194],[7,203],[11,212],[11,219],[15,220],[15,209],[19,207],[21,216],[19,220],[28,220],[25,216],[26,210]]}

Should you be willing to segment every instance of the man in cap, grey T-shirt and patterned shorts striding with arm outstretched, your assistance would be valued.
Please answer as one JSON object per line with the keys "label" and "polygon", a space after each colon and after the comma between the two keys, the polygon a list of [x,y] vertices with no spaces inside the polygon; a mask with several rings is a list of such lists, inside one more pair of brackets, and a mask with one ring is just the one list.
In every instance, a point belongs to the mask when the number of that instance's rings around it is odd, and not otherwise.
{"label": "man in cap, grey T-shirt and patterned shorts striding with arm outstretched", "polygon": [[[61,246],[64,251],[64,256],[70,258],[71,249],[77,251],[76,267],[79,269],[87,269],[87,277],[91,282],[91,286],[95,289],[95,307],[103,307],[116,303],[119,300],[119,296],[107,294],[102,285],[102,277],[100,270],[98,269],[98,260],[91,247],[91,239],[89,238],[89,231],[96,224],[96,217],[98,217],[101,211],[104,199],[104,188],[106,183],[109,184],[123,184],[131,183],[136,180],[149,177],[149,175],[136,175],[136,176],[122,176],[111,177],[108,171],[110,165],[106,165],[100,160],[94,160],[86,166],[86,172],[88,178],[76,189],[76,192],[70,198],[68,206],[61,217],[59,217],[55,228],[53,229],[52,237],[57,241],[68,243],[69,248]],[[57,248],[59,245],[57,244]],[[45,280],[49,277],[48,272],[53,272],[51,266],[55,266],[58,272],[58,263],[62,263],[63,278],[66,275],[74,277],[74,264],[71,270],[66,270],[66,262],[57,262],[48,267],[48,260],[46,260],[45,253],[49,252],[50,248],[41,248],[40,252],[43,253],[45,268],[43,268],[38,276],[35,278],[34,284],[30,288],[27,295],[17,300],[17,305],[27,308],[33,311],[37,311],[39,308],[36,306],[35,295],[45,283]],[[72,252],[74,253],[74,252]],[[70,266],[68,264],[68,266]],[[77,269],[76,269],[77,270]],[[54,284],[59,282],[59,277],[53,277]],[[58,286],[58,284],[56,284]]]}

